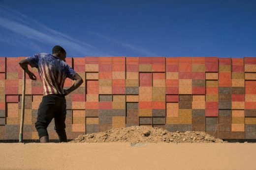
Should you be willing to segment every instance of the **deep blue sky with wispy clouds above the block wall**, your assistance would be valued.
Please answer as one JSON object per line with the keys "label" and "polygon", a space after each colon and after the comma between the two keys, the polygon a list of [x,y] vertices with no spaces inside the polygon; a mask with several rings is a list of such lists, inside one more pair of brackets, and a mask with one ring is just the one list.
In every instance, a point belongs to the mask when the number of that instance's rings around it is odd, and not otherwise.
{"label": "deep blue sky with wispy clouds above the block wall", "polygon": [[256,56],[256,0],[0,0],[0,56]]}

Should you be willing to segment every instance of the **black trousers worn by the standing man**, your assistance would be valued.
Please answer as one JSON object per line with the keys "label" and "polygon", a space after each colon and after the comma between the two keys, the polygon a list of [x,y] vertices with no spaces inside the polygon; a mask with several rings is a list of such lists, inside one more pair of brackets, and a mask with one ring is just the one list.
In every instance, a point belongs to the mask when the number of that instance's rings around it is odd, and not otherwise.
{"label": "black trousers worn by the standing man", "polygon": [[60,142],[67,142],[65,132],[66,99],[64,95],[51,94],[42,98],[37,112],[35,128],[39,138],[49,136],[47,127],[54,118],[55,127]]}

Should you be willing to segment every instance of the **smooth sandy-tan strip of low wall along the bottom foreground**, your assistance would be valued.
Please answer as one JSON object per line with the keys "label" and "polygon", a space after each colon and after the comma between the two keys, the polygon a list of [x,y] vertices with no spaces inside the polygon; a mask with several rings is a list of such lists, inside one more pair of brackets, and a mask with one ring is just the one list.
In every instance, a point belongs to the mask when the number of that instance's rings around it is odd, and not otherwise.
{"label": "smooth sandy-tan strip of low wall along the bottom foreground", "polygon": [[255,170],[256,144],[0,144],[3,170]]}

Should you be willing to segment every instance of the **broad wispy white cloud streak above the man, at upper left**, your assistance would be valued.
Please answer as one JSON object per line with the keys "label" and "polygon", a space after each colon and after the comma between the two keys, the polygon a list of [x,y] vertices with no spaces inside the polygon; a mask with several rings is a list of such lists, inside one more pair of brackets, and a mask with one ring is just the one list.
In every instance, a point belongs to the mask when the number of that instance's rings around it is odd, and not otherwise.
{"label": "broad wispy white cloud streak above the man, at upper left", "polygon": [[[60,44],[69,49],[78,51],[82,55],[107,55],[103,52],[99,52],[96,47],[90,44],[75,40],[68,35],[53,30],[13,9],[9,9],[0,5],[0,14],[0,27],[13,32],[13,34],[9,34],[11,39],[17,39],[19,36],[24,37],[24,39],[19,39],[17,42],[12,41],[12,43],[22,45],[23,41],[30,41],[30,43],[24,42],[24,44]],[[0,30],[1,37],[6,37],[3,36],[4,32],[5,31]],[[9,40],[1,41],[5,41],[10,44]],[[39,45],[32,45],[31,47],[35,46]]]}

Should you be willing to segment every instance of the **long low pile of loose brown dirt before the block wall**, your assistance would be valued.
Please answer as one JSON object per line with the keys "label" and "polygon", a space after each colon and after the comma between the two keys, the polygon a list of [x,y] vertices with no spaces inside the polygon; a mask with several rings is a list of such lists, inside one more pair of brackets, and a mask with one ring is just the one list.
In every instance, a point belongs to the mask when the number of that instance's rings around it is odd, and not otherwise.
{"label": "long low pile of loose brown dirt before the block wall", "polygon": [[[130,126],[103,132],[79,135],[70,143],[129,142],[129,143],[224,143],[222,139],[197,131],[169,132],[158,127]],[[226,142],[226,141],[225,141]]]}

